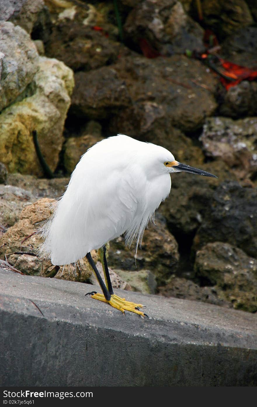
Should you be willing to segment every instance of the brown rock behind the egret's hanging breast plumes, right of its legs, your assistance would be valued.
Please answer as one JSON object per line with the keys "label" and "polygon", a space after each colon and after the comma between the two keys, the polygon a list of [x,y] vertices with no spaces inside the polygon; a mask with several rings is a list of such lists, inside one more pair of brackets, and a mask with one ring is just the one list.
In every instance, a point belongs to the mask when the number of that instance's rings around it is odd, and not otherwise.
{"label": "brown rock behind the egret's hanging breast plumes, right of its legs", "polygon": [[[135,260],[136,259],[136,260]],[[156,213],[155,224],[145,230],[141,249],[137,254],[132,248],[125,247],[123,237],[110,242],[108,264],[112,269],[141,270],[153,272],[158,284],[163,284],[177,269],[179,261],[178,245],[168,232],[163,217]]]}

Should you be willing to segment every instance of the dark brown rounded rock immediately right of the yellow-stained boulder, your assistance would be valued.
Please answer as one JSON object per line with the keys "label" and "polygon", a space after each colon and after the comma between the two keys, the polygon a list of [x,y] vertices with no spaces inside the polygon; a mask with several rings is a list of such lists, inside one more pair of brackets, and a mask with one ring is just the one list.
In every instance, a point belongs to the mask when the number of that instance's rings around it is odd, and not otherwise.
{"label": "dark brown rounded rock immediately right of the yellow-stained boulder", "polygon": [[93,71],[75,74],[71,114],[103,119],[130,103],[125,81],[119,79],[113,67],[104,66]]}

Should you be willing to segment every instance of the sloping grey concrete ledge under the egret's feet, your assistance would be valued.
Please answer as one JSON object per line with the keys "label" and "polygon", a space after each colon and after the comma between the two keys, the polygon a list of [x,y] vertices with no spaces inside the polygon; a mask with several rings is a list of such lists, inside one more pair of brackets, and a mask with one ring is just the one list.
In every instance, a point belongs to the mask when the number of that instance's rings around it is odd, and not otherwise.
{"label": "sloping grey concrete ledge under the egret's feet", "polygon": [[0,270],[1,386],[257,384],[257,315],[116,290],[150,319],[124,317],[92,289]]}

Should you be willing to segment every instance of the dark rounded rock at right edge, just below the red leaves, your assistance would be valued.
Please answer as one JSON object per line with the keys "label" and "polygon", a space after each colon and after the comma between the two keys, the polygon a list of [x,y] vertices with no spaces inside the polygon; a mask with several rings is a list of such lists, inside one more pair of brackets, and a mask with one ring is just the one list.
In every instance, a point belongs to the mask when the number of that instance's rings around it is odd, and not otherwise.
{"label": "dark rounded rock at right edge, just below the red leaves", "polygon": [[257,115],[257,83],[242,81],[224,92],[223,101],[219,107],[222,116],[239,118]]}

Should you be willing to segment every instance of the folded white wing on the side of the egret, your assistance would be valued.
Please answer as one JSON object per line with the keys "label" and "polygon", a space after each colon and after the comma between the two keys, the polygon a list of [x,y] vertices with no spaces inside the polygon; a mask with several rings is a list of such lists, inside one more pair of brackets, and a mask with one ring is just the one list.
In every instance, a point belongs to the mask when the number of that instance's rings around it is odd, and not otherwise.
{"label": "folded white wing on the side of the egret", "polygon": [[76,170],[45,227],[42,250],[55,265],[74,263],[120,236],[138,210],[134,180],[127,171],[125,176],[120,169],[90,175],[78,166]]}

